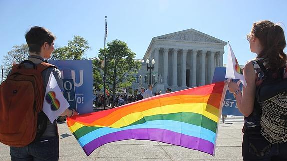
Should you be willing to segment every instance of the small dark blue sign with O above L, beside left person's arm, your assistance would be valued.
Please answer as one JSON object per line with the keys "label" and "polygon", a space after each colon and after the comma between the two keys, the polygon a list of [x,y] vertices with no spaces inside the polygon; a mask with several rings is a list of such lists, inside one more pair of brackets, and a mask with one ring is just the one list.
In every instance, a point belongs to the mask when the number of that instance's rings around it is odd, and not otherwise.
{"label": "small dark blue sign with O above L, beside left person's arm", "polygon": [[69,102],[69,109],[77,109],[76,92],[73,79],[63,79],[64,97]]}

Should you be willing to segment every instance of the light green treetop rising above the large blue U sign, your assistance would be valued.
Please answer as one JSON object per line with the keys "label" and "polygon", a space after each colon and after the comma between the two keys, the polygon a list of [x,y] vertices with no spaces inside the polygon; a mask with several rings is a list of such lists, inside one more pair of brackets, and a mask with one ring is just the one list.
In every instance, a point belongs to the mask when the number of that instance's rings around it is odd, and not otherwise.
{"label": "light green treetop rising above the large blue U sign", "polygon": [[81,36],[74,36],[68,41],[68,46],[56,48],[51,60],[80,60],[84,53],[90,49],[89,43]]}

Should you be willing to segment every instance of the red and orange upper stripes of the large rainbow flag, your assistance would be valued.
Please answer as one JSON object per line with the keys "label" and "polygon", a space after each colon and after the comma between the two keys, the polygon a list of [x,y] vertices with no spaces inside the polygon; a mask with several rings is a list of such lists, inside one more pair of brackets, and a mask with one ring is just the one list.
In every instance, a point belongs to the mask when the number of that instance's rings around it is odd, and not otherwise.
{"label": "red and orange upper stripes of the large rainbow flag", "polygon": [[[210,84],[178,92],[149,97],[147,99],[126,104],[119,108],[110,109],[108,111],[100,111],[96,113],[90,113],[78,116],[76,119],[70,121],[69,126],[72,126],[75,122],[79,123],[85,122],[93,124],[93,122],[95,121],[107,119],[106,117],[109,117],[108,115],[111,113],[117,114],[118,118],[121,118],[134,112],[141,112],[155,107],[180,104],[180,103],[207,103],[218,109],[220,101],[217,100],[220,100],[221,98],[223,86],[224,82],[219,82],[216,84]],[[205,94],[205,95],[199,95],[199,94]],[[111,123],[114,121],[114,119],[110,120]]]}

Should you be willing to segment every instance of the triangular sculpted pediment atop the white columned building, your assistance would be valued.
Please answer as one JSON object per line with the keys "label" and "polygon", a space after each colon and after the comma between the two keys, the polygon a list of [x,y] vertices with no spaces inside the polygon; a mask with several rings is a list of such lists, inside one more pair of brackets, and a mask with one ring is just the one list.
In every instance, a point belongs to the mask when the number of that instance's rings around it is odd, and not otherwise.
{"label": "triangular sculpted pediment atop the white columned building", "polygon": [[196,42],[210,42],[210,43],[221,43],[226,44],[226,42],[217,39],[215,37],[209,36],[202,32],[199,32],[194,29],[188,29],[184,31],[174,32],[158,37],[154,37],[156,39],[163,39],[163,40],[176,40],[176,41],[196,41]]}

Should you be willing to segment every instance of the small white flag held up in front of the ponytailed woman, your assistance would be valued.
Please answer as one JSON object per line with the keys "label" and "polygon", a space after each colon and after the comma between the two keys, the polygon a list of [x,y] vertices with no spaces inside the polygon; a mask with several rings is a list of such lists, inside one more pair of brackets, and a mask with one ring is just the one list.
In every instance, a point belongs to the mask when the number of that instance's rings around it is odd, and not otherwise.
{"label": "small white flag held up in front of the ponytailed woman", "polygon": [[240,69],[236,57],[232,51],[230,44],[228,43],[229,50],[227,54],[227,64],[225,78],[239,79],[241,83],[246,87],[246,81],[244,79],[242,70]]}

